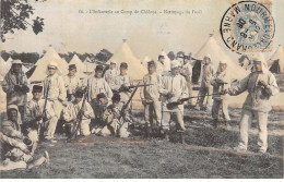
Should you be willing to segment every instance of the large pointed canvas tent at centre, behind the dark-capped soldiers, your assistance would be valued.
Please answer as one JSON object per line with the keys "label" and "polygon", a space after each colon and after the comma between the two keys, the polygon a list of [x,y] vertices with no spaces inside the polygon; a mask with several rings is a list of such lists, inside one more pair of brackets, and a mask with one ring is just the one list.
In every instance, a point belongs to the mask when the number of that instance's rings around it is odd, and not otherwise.
{"label": "large pointed canvas tent at centre, behind the dark-capped soldiers", "polygon": [[147,73],[146,68],[140,63],[140,60],[126,41],[117,49],[111,59],[107,61],[107,64],[109,64],[111,60],[116,60],[119,64],[121,62],[128,63],[128,75],[132,80],[142,80]]}

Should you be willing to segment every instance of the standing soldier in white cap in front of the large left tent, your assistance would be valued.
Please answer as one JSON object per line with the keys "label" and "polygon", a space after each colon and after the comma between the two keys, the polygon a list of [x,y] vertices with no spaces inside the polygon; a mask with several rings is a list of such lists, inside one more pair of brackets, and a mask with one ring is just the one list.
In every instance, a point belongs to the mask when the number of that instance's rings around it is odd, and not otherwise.
{"label": "standing soldier in white cap in front of the large left tent", "polygon": [[[48,64],[47,74],[48,76],[44,82],[44,97],[50,102],[58,121],[63,109],[62,104],[67,98],[66,85],[57,62],[50,62]],[[57,122],[52,122],[52,124],[56,126]],[[50,132],[49,136],[54,136],[55,130]]]}

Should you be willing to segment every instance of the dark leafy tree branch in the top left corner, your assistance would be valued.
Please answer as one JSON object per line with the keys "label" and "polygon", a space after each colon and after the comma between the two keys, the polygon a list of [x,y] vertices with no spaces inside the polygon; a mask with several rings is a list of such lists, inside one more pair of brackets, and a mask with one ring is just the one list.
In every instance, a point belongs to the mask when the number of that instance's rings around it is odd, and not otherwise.
{"label": "dark leafy tree branch in the top left corner", "polygon": [[[35,1],[44,2],[46,0]],[[34,14],[34,9],[31,0],[1,0],[1,41],[5,41],[5,34],[14,34],[19,29],[26,31],[27,26],[32,26],[36,35],[43,32],[44,19],[36,16],[32,20],[33,23],[29,23],[27,20],[32,14]]]}

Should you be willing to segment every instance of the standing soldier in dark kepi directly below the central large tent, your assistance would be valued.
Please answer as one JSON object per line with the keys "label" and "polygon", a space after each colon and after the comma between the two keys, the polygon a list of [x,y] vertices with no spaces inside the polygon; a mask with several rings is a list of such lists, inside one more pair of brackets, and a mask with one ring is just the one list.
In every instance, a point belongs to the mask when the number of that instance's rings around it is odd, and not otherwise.
{"label": "standing soldier in dark kepi directly below the central large tent", "polygon": [[120,74],[116,77],[115,81],[115,90],[120,94],[120,101],[126,104],[130,97],[129,86],[132,85],[132,81],[127,74],[128,64],[126,62],[120,63]]}

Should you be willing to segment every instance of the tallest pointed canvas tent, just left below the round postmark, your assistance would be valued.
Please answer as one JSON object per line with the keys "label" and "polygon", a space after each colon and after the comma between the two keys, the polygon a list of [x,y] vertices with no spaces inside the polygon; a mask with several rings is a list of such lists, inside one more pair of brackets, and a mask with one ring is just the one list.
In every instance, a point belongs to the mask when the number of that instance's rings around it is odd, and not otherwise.
{"label": "tallest pointed canvas tent, just left below the round postmark", "polygon": [[217,41],[212,35],[210,35],[204,45],[199,49],[194,58],[198,60],[203,60],[204,56],[206,54],[211,56],[211,63],[213,64],[215,71],[217,71],[221,60],[227,61],[227,69],[229,70],[233,80],[241,80],[249,74],[249,71],[246,71],[238,64],[238,60],[233,61],[226,54],[226,52],[222,49],[222,47],[218,46]]}

